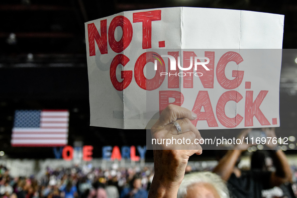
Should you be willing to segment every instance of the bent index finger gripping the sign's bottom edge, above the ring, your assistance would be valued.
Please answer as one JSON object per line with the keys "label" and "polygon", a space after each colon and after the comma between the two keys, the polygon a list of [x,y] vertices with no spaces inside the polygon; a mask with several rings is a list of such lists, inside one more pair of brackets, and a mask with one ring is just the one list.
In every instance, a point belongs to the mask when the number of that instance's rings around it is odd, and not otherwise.
{"label": "bent index finger gripping the sign's bottom edge, above the ring", "polygon": [[172,123],[173,121],[176,121],[177,119],[182,118],[195,120],[197,118],[197,115],[188,109],[170,104],[161,113],[158,124],[161,126],[165,126]]}

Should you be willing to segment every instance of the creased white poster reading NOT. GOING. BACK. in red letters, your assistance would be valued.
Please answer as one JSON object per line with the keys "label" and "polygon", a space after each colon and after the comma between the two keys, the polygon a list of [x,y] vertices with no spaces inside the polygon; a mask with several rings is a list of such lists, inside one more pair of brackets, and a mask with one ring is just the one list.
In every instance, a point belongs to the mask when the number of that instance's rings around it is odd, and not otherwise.
{"label": "creased white poster reading NOT. GOING. BACK. in red letters", "polygon": [[85,23],[90,125],[144,129],[171,103],[198,129],[278,127],[283,20],[182,7]]}

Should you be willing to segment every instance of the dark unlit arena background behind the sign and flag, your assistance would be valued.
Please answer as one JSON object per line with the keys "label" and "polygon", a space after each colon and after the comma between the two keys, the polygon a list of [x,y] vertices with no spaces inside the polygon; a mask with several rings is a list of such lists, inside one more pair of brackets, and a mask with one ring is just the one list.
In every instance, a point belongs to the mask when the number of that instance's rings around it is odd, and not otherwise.
{"label": "dark unlit arena background behind the sign and flag", "polygon": [[[51,148],[10,145],[14,111],[68,109],[69,145],[82,141],[101,157],[104,145],[145,145],[144,130],[89,127],[88,79],[84,22],[122,11],[190,6],[250,10],[285,15],[283,48],[297,46],[297,2],[256,0],[95,1],[2,0],[0,2],[0,150],[13,158],[54,157]],[[297,53],[283,60],[295,71]],[[290,73],[290,72],[289,72]],[[296,73],[297,74],[297,73]],[[281,76],[280,134],[297,128],[297,80]],[[228,132],[228,131],[224,131]],[[210,131],[202,131],[203,134]],[[287,151],[295,153],[295,151]],[[204,151],[214,156],[213,151]],[[152,158],[152,152],[147,153]]]}

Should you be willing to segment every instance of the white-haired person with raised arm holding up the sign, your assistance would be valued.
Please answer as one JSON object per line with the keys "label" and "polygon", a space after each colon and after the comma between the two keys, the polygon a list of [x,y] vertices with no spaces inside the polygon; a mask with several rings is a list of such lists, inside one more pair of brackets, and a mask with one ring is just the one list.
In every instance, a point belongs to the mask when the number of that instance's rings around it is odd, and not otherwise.
{"label": "white-haired person with raised arm holding up the sign", "polygon": [[169,105],[151,128],[152,138],[190,139],[189,144],[153,145],[155,175],[149,190],[149,198],[228,198],[224,181],[214,173],[185,174],[191,155],[202,154],[202,147],[194,143],[202,139],[190,122],[197,116],[182,107]]}

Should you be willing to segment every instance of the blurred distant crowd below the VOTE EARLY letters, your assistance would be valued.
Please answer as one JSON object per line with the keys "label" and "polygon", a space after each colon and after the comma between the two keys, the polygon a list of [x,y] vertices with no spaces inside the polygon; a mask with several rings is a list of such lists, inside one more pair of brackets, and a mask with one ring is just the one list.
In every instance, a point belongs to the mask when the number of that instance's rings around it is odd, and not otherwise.
{"label": "blurred distant crowd below the VOTE EARLY letters", "polygon": [[0,197],[14,198],[119,198],[147,197],[153,169],[144,167],[102,170],[85,166],[47,168],[39,179],[11,177],[9,169],[0,166]]}

